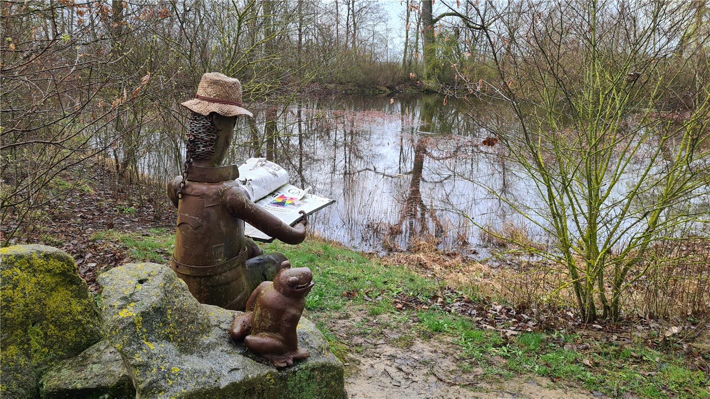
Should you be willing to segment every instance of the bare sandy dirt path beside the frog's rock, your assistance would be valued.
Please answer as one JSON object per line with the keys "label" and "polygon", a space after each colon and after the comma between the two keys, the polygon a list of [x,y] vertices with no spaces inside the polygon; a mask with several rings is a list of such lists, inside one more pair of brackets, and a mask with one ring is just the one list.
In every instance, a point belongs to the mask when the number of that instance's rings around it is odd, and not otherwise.
{"label": "bare sandy dirt path beside the frog's rock", "polygon": [[[465,359],[461,359],[454,342],[443,336],[426,341],[413,337],[406,323],[389,319],[388,315],[379,315],[373,321],[355,311],[329,320],[339,342],[349,347],[345,387],[352,399],[602,398],[581,388],[556,386],[537,376],[492,381],[483,369],[461,369],[459,364]],[[370,333],[354,334],[364,328]],[[406,342],[406,347],[398,347],[397,342]]]}

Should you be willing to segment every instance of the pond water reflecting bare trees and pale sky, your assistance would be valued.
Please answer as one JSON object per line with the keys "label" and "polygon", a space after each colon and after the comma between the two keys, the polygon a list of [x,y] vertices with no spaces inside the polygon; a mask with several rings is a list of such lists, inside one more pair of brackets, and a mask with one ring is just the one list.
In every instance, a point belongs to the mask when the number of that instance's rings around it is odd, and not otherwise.
{"label": "pond water reflecting bare trees and pale sky", "polygon": [[[310,231],[326,239],[368,252],[423,243],[464,255],[496,245],[476,225],[522,232],[540,245],[550,240],[537,227],[547,224],[539,216],[546,212],[530,176],[501,156],[501,145],[481,145],[488,134],[467,114],[486,118],[483,106],[397,95],[251,109],[256,123],[238,125],[228,162],[266,157],[288,170],[291,183],[334,198],[334,205],[310,218]],[[146,150],[141,169],[166,180],[180,173],[184,150],[176,130]],[[637,155],[638,168],[629,168],[612,197],[626,195],[648,164],[643,151]],[[520,204],[530,219],[501,196]]]}

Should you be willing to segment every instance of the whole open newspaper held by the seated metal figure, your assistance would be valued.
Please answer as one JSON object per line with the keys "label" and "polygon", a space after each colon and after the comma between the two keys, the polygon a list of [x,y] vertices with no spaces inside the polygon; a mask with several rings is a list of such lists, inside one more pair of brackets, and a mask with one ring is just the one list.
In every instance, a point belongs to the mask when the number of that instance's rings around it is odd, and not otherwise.
{"label": "whole open newspaper held by the seated metal figure", "polygon": [[[281,183],[284,176],[286,183]],[[250,158],[239,167],[239,179],[237,180],[244,184],[256,205],[291,226],[303,218],[303,215],[300,214],[301,210],[306,215],[310,215],[335,202],[331,198],[308,193],[310,188],[299,189],[288,184],[288,179],[288,172],[278,164],[264,158]],[[264,194],[262,195],[262,193]],[[257,230],[249,223],[244,223],[244,235],[256,241],[273,241],[273,237]]]}

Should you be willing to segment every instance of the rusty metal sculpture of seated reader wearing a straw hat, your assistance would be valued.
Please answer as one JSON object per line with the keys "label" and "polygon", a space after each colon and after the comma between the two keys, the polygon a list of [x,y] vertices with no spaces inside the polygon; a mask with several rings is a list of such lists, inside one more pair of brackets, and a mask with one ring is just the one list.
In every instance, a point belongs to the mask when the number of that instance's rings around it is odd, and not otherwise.
{"label": "rusty metal sculpture of seated reader wearing a straw hat", "polygon": [[195,99],[182,106],[192,113],[185,172],[168,183],[168,196],[178,208],[170,266],[200,303],[244,310],[254,288],[273,279],[286,260],[278,252],[263,254],[244,236],[244,221],[288,244],[303,241],[307,221],[304,217],[291,227],[259,208],[235,181],[236,165],[222,166],[236,118],[251,116],[241,106],[239,80],[204,74]]}

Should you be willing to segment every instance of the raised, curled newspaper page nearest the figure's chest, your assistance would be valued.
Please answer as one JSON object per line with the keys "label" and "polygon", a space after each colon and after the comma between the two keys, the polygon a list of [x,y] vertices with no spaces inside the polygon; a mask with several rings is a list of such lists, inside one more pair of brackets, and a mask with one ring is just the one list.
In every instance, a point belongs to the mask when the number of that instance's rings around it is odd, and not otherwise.
{"label": "raised, curled newspaper page nearest the figure's chest", "polygon": [[249,158],[239,167],[237,179],[257,202],[288,183],[288,172],[266,158]]}

